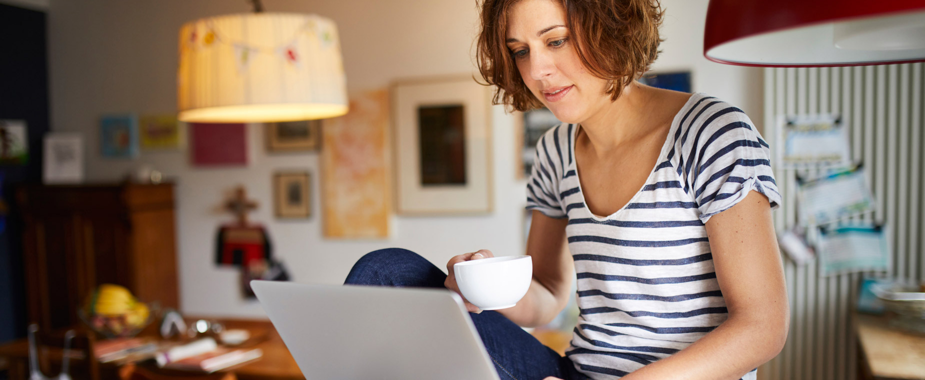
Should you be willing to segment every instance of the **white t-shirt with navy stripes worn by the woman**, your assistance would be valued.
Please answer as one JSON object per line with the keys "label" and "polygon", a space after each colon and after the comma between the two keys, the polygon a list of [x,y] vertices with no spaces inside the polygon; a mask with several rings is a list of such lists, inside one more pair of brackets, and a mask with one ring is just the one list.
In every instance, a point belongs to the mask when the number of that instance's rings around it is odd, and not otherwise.
{"label": "white t-shirt with navy stripes worn by the woman", "polygon": [[579,186],[576,130],[562,124],[537,143],[527,208],[568,218],[581,313],[566,355],[591,378],[614,379],[685,349],[726,320],[704,224],[750,190],[772,208],[781,195],[768,144],[748,116],[695,93],[674,116],[643,188],[623,209],[598,217]]}

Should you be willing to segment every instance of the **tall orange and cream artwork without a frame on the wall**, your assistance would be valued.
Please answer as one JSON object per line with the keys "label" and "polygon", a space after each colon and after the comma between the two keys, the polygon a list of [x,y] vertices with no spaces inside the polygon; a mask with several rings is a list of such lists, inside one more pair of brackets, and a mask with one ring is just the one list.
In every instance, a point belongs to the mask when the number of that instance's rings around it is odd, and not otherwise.
{"label": "tall orange and cream artwork without a frame on the wall", "polygon": [[325,120],[322,136],[325,237],[387,239],[388,91],[351,96],[350,112]]}

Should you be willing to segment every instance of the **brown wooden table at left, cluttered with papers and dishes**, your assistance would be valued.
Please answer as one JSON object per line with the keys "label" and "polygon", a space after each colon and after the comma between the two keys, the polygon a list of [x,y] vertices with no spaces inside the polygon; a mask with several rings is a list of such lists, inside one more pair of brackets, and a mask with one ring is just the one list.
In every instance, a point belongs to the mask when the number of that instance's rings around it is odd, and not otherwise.
{"label": "brown wooden table at left, cluttered with papers and dishes", "polygon": [[[199,318],[184,318],[187,322]],[[248,320],[248,319],[227,319],[227,318],[203,318],[214,319],[225,325],[226,328],[243,328],[251,331],[254,336],[264,336],[264,339],[256,342],[249,348],[263,349],[264,356],[260,359],[230,367],[219,372],[232,372],[238,376],[239,380],[304,380],[302,371],[299,371],[299,365],[292,359],[289,349],[283,343],[277,333],[276,328],[269,320]],[[154,334],[154,328],[149,326],[142,335]],[[53,362],[60,362],[62,353],[60,350],[49,350],[49,359]],[[0,346],[0,358],[7,358],[10,362],[9,380],[27,380],[29,378],[29,342],[27,339],[19,339]],[[118,365],[114,363],[100,364],[100,380],[117,380]]]}

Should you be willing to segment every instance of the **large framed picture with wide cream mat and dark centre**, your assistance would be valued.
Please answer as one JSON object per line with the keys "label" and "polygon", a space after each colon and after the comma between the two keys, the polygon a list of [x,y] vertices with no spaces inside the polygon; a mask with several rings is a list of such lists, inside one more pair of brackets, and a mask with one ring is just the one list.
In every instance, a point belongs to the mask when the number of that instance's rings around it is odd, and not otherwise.
{"label": "large framed picture with wide cream mat and dark centre", "polygon": [[470,76],[392,87],[398,213],[492,209],[491,102]]}

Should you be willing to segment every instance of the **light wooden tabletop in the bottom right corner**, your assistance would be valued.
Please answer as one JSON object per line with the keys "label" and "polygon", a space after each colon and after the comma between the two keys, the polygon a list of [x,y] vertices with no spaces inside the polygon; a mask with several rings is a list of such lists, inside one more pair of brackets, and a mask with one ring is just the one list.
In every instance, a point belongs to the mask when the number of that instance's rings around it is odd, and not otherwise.
{"label": "light wooden tabletop in the bottom right corner", "polygon": [[861,371],[868,379],[925,380],[925,335],[890,326],[887,317],[854,315]]}

